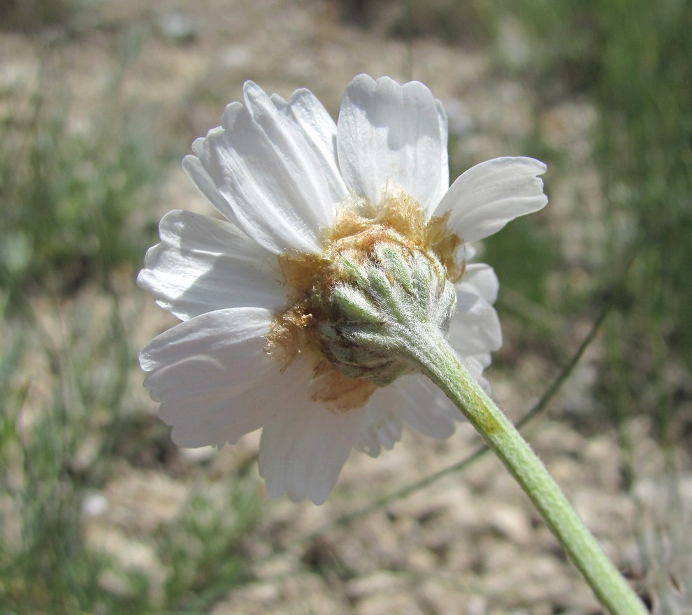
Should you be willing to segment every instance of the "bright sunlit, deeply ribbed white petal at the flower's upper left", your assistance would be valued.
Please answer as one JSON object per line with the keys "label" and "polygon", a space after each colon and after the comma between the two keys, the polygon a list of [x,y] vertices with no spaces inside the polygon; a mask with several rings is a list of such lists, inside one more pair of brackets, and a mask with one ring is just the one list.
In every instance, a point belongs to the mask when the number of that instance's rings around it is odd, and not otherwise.
{"label": "bright sunlit, deeply ribbed white petal at the flower's upper left", "polygon": [[[245,84],[243,96],[244,105],[226,107],[223,127],[196,145],[197,156],[254,240],[275,254],[319,252],[338,185],[334,165],[324,164],[324,115],[306,132],[300,112],[277,108],[254,83]],[[298,99],[297,106],[312,104]]]}

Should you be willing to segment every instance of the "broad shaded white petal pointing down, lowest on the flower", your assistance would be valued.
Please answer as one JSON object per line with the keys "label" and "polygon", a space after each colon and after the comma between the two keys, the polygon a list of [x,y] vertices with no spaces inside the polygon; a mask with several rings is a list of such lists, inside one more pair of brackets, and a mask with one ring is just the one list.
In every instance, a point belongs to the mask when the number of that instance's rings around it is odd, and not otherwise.
{"label": "broad shaded white petal pointing down, lowest on the flower", "polygon": [[262,431],[259,473],[272,498],[287,493],[296,502],[308,498],[322,504],[356,442],[365,413],[362,408],[332,412],[307,396],[280,399],[281,412]]}

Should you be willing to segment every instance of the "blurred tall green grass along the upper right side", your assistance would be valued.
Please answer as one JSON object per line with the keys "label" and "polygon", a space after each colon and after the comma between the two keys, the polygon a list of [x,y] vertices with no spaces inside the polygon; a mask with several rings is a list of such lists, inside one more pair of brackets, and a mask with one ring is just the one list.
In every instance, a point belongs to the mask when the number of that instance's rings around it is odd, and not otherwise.
{"label": "blurred tall green grass along the upper right side", "polygon": [[604,279],[632,263],[619,302],[626,325],[609,337],[622,346],[611,354],[623,377],[611,374],[605,396],[628,407],[648,400],[668,440],[672,399],[691,394],[665,380],[675,357],[692,366],[692,4],[518,0],[497,10],[498,22],[511,16],[524,29],[531,52],[521,71],[545,105],[577,93],[596,104]]}

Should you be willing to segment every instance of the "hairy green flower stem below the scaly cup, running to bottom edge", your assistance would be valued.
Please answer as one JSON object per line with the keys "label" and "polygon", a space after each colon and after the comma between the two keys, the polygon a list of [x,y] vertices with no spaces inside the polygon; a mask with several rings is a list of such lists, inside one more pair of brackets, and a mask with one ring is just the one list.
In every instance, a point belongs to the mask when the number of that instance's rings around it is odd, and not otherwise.
{"label": "hairy green flower stem below the scaly cup, running to bottom edge", "polygon": [[507,466],[601,604],[613,615],[646,615],[647,609],[579,519],[545,465],[461,365],[442,335],[434,327],[410,333],[414,334],[403,333],[410,359],[440,386]]}

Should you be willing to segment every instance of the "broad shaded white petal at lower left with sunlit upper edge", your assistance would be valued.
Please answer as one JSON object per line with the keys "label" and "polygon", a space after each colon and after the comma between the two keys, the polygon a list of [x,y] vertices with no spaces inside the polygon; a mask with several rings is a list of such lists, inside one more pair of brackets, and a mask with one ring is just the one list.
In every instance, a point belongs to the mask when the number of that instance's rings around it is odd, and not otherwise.
{"label": "broad shaded white petal at lower left with sunlit upper edge", "polygon": [[273,419],[279,391],[268,383],[276,382],[279,366],[264,352],[271,317],[247,307],[202,314],[161,333],[140,353],[150,372],[144,384],[161,402],[159,416],[173,426],[177,444],[236,441]]}

